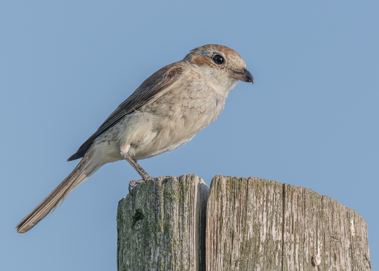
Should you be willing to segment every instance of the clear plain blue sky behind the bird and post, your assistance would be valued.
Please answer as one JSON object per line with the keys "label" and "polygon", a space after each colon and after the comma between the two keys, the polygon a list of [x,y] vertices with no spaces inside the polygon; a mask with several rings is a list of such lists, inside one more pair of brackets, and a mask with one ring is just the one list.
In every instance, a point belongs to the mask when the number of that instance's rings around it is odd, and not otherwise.
{"label": "clear plain blue sky behind the bird and post", "polygon": [[368,222],[379,270],[378,1],[2,1],[2,270],[115,270],[116,208],[138,179],[107,164],[30,232],[14,227],[141,82],[189,50],[235,49],[254,76],[152,176],[256,176],[305,186]]}

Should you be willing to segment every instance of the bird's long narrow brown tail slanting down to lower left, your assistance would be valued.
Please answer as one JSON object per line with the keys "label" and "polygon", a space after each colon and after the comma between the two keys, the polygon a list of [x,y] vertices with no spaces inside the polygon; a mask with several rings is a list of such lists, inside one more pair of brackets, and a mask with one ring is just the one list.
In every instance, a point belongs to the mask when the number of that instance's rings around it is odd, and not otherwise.
{"label": "bird's long narrow brown tail slanting down to lower left", "polygon": [[[90,175],[96,172],[103,164],[92,162],[92,155],[87,152],[75,169],[63,180],[36,208],[17,224],[17,232],[24,233],[33,228],[41,219],[63,202],[67,194],[83,183]],[[53,210],[53,211],[54,211]]]}

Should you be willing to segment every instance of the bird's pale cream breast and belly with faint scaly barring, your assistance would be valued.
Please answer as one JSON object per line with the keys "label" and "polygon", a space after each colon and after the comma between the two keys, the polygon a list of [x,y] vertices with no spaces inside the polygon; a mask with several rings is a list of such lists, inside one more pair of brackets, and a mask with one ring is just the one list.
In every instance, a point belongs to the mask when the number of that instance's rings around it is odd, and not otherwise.
{"label": "bird's pale cream breast and belly with faint scaly barring", "polygon": [[172,150],[191,140],[215,121],[225,104],[225,96],[209,88],[200,77],[182,79],[150,104],[125,117],[119,135],[130,144],[135,160]]}

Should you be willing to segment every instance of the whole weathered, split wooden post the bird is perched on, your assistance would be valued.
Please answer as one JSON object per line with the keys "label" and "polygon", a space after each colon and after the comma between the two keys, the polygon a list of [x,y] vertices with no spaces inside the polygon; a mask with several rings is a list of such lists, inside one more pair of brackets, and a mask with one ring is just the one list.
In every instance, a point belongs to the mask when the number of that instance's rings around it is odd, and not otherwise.
{"label": "whole weathered, split wooden post the bird is perched on", "polygon": [[183,175],[136,194],[117,210],[119,271],[371,270],[366,221],[304,187],[218,175],[208,197]]}

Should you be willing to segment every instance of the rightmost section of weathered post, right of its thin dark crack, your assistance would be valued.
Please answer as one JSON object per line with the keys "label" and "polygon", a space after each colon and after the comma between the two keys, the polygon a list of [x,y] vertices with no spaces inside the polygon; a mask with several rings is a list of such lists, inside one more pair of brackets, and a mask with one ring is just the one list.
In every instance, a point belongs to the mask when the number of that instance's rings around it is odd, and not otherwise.
{"label": "rightmost section of weathered post, right of its thin dark crack", "polygon": [[[283,270],[371,270],[367,222],[337,200],[283,184]],[[316,269],[317,270],[317,269]]]}

